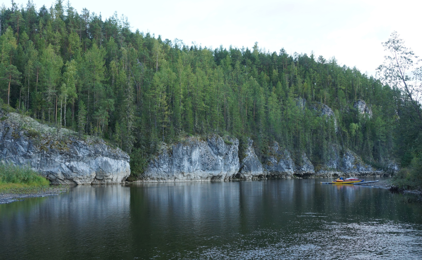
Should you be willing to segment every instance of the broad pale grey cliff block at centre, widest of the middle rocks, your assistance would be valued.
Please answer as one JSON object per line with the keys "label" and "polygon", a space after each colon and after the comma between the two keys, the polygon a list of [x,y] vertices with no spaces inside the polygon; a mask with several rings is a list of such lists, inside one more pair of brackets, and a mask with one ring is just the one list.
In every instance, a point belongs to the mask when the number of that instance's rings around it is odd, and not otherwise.
{"label": "broad pale grey cliff block at centre, widest of the middle rocks", "polygon": [[163,144],[149,162],[141,181],[218,181],[238,173],[239,141],[211,135],[206,140],[189,137],[172,146]]}

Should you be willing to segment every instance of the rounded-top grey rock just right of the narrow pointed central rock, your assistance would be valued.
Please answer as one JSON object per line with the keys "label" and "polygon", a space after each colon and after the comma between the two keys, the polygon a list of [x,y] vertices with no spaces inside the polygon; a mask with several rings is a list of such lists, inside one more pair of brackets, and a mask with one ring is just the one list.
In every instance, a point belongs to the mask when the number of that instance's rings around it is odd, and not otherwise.
{"label": "rounded-top grey rock just right of the narrow pointed central rock", "polygon": [[293,177],[295,164],[289,152],[280,148],[279,143],[274,141],[273,145],[268,148],[264,168],[269,178],[290,179]]}

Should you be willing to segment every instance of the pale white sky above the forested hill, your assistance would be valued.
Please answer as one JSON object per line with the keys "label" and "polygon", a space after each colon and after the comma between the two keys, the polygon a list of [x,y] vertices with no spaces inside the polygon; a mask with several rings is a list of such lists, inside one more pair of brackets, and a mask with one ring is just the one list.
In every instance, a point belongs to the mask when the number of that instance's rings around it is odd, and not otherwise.
{"label": "pale white sky above the forested hill", "polygon": [[[17,0],[19,5],[25,0]],[[67,1],[65,1],[66,3]],[[51,0],[34,0],[37,8],[51,6]],[[406,45],[422,55],[422,1],[410,0],[290,0],[290,1],[130,1],[71,0],[73,8],[101,13],[103,19],[124,14],[133,31],[162,39],[178,38],[191,45],[213,48],[230,45],[289,54],[314,51],[326,59],[335,56],[338,63],[356,66],[374,75],[384,60],[381,42],[396,30]],[[8,7],[10,2],[6,2]],[[418,25],[419,24],[419,25]]]}

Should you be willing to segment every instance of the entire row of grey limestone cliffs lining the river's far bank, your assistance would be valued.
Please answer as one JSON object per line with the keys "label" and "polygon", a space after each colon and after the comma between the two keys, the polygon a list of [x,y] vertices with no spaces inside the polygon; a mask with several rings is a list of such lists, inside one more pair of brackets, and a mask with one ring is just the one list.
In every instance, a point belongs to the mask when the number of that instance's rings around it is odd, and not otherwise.
{"label": "entire row of grey limestone cliffs lining the river's far bank", "polygon": [[[231,179],[309,178],[332,176],[383,176],[398,170],[393,161],[387,171],[373,168],[352,151],[340,154],[331,147],[324,165],[312,164],[305,153],[292,159],[289,151],[273,142],[262,158],[247,140],[239,161],[239,141],[213,134],[162,144],[138,181],[222,181]],[[76,133],[40,124],[35,119],[0,111],[0,160],[29,165],[53,184],[122,183],[130,175],[130,158],[100,138],[79,140]],[[317,168],[317,170],[316,170]]]}

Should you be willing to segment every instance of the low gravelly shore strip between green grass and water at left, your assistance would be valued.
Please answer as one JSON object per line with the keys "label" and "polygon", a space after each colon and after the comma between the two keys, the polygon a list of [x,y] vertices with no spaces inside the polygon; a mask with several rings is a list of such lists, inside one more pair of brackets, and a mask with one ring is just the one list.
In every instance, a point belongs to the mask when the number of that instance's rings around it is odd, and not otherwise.
{"label": "low gravelly shore strip between green grass and water at left", "polygon": [[11,203],[18,201],[20,198],[29,197],[44,197],[59,195],[62,192],[69,190],[68,185],[60,186],[39,186],[39,187],[24,187],[24,188],[10,188],[0,190],[0,204]]}

